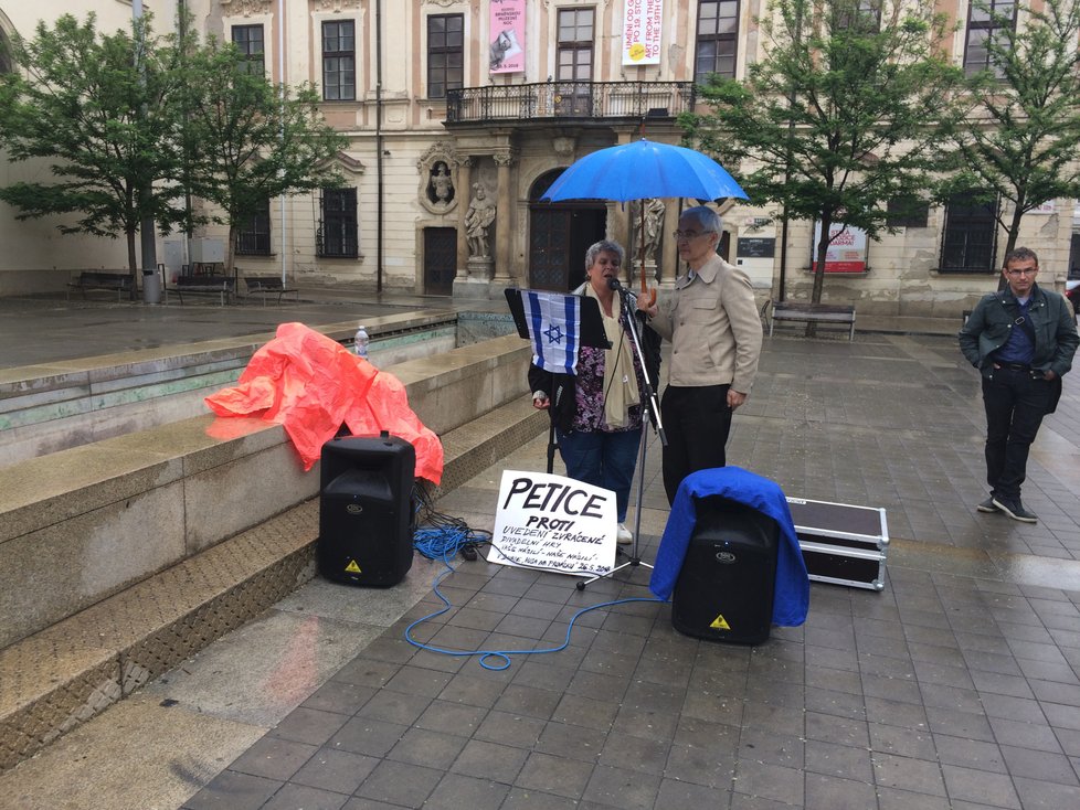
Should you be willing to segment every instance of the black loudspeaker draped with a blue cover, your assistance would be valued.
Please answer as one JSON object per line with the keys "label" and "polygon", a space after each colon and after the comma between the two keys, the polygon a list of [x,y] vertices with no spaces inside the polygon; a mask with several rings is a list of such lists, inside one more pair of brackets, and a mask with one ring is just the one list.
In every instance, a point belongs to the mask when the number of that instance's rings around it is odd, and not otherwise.
{"label": "black loudspeaker draped with a blue cover", "polygon": [[769,638],[780,526],[719,495],[697,500],[697,519],[671,596],[671,624],[687,636],[756,644]]}

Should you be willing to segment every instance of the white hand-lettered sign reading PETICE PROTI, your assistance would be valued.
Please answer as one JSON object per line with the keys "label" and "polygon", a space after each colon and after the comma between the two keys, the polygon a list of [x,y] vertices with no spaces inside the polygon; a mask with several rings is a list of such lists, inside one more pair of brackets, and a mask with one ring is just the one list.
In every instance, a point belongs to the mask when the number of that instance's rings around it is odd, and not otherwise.
{"label": "white hand-lettered sign reading PETICE PROTI", "polygon": [[489,563],[591,576],[615,567],[615,493],[547,472],[504,470]]}

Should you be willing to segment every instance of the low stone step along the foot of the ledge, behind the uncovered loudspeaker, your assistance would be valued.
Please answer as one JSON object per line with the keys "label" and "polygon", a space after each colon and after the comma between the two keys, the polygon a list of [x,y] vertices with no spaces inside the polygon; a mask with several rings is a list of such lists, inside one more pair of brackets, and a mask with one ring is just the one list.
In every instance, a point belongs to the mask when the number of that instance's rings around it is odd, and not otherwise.
{"label": "low stone step along the foot of the ledge, behind the uncovered loudspeaker", "polygon": [[[519,398],[442,437],[445,494],[547,429]],[[0,650],[0,771],[258,616],[316,573],[314,498]]]}

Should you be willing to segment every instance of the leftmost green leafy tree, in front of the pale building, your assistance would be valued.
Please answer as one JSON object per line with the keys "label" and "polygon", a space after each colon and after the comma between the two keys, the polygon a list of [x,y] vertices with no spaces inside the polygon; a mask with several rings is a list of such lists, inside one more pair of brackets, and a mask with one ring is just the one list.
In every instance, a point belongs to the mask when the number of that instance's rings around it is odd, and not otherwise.
{"label": "leftmost green leafy tree, in front of the pale building", "polygon": [[12,38],[11,56],[21,70],[0,76],[0,145],[12,161],[44,159],[53,180],[12,183],[0,199],[20,220],[74,215],[63,233],[124,234],[135,276],[142,220],[167,230],[182,213],[171,204],[182,190],[156,182],[178,174],[176,50],[149,14],[100,34],[92,13],[39,23],[32,40]]}

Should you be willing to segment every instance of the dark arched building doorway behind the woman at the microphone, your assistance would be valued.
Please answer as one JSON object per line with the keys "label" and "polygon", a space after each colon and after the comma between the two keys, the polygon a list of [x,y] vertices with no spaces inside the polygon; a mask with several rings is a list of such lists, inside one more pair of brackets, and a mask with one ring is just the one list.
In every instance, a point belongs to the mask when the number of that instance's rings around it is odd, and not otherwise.
{"label": "dark arched building doorway behind the woman at the microphone", "polygon": [[562,173],[539,178],[529,199],[529,287],[565,292],[585,280],[585,251],[604,238],[607,206],[601,200],[536,202]]}

